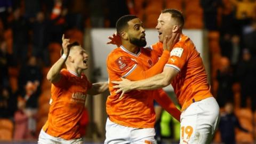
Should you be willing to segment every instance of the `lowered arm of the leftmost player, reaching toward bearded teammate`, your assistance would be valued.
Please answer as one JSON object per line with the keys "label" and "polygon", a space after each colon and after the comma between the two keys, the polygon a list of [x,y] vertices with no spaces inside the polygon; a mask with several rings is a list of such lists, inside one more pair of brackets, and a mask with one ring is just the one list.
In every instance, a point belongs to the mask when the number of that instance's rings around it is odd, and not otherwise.
{"label": "lowered arm of the leftmost player, reaching toward bearded teammate", "polygon": [[108,82],[93,83],[92,88],[87,91],[87,94],[96,95],[108,90]]}

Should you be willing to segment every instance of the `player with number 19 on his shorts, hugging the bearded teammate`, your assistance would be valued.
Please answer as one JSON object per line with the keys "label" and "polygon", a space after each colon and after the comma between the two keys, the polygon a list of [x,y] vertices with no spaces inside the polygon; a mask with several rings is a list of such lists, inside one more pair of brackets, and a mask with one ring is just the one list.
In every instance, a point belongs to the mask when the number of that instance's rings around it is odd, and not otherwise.
{"label": "player with number 19 on his shorts, hugging the bearded teammate", "polygon": [[[184,18],[175,9],[163,10],[157,20],[159,42],[151,47],[162,47],[164,35],[180,34],[179,42],[171,51],[161,74],[141,80],[112,82],[122,92],[154,90],[172,84],[182,107],[180,143],[210,143],[219,122],[219,105],[210,92],[202,58],[189,37],[182,34]],[[124,97],[127,97],[124,95]]]}

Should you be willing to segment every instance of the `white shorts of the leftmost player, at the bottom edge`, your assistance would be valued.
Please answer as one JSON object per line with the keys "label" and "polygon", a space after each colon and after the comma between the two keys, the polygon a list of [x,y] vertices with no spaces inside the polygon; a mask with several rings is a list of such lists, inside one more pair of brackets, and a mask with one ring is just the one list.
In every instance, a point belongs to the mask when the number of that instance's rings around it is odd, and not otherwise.
{"label": "white shorts of the leftmost player, at the bottom edge", "polygon": [[47,134],[43,130],[40,131],[38,137],[38,144],[83,144],[82,138],[73,139],[73,140],[65,140],[59,137],[52,137]]}

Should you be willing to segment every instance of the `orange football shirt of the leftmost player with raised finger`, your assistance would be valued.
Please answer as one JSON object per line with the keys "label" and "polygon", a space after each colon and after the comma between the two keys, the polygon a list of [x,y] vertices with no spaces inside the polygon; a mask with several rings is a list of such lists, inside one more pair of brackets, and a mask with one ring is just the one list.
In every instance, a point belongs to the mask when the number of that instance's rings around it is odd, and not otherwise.
{"label": "orange football shirt of the leftmost player with raised finger", "polygon": [[92,84],[84,74],[78,77],[62,69],[61,79],[51,87],[51,106],[43,130],[53,137],[66,140],[80,138],[79,120],[82,117],[86,92]]}

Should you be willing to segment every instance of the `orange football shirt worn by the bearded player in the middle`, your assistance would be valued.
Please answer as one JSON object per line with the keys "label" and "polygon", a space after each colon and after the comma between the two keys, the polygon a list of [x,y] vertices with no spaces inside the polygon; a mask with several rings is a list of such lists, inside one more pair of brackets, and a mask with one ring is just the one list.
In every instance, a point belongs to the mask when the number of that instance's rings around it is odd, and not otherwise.
{"label": "orange football shirt worn by the bearded player in the middle", "polygon": [[[107,58],[109,81],[121,81],[121,77],[138,81],[161,73],[170,52],[164,51],[158,61],[159,55],[161,53],[143,47],[137,54],[127,51],[123,46],[118,47]],[[110,121],[129,127],[154,127],[155,91],[131,91],[119,99],[120,93],[115,93],[113,86],[113,83],[109,83],[110,95],[106,102]]]}

